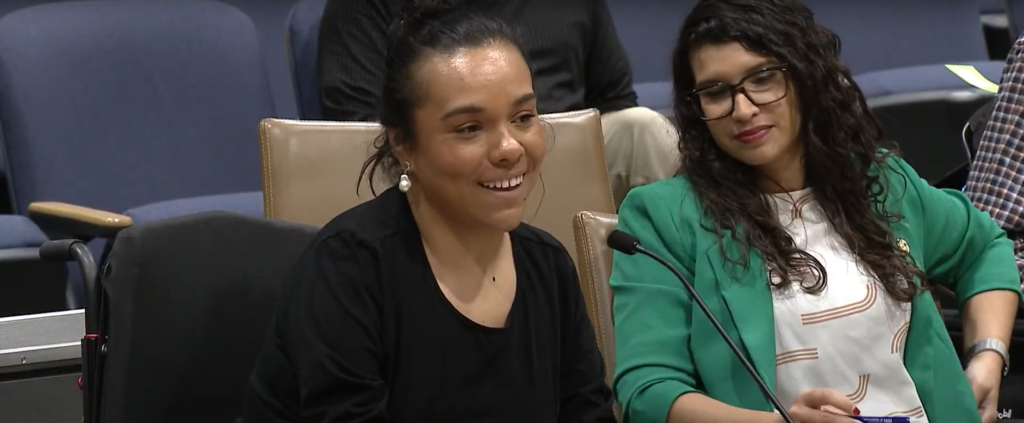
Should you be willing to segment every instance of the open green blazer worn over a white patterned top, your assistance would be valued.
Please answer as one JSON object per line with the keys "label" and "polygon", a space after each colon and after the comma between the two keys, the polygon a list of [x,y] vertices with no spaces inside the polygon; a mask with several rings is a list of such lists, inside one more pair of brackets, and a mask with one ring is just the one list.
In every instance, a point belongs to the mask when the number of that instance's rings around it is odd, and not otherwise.
{"label": "open green blazer worn over a white patterned top", "polygon": [[[903,216],[892,229],[929,280],[952,289],[961,306],[989,290],[1019,294],[1013,244],[989,216],[959,192],[930,186],[902,160],[893,158],[890,164],[886,204]],[[752,251],[745,269],[727,266],[717,237],[705,228],[711,226],[701,225],[708,223],[703,216],[690,184],[675,177],[631,191],[620,208],[618,228],[686,276],[774,388],[775,323],[762,258]],[[725,238],[725,250],[734,256],[738,246]],[[669,270],[648,257],[616,252],[610,284],[613,388],[626,422],[663,423],[672,403],[691,391],[734,407],[774,410]],[[904,362],[929,421],[980,422],[956,347],[931,294],[921,294],[911,307]]]}

